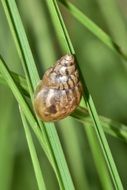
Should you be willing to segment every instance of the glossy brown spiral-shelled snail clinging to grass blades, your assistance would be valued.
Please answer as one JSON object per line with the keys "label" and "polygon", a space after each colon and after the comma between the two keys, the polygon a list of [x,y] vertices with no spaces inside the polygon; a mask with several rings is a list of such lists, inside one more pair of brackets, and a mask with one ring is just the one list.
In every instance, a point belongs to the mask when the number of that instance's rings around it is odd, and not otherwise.
{"label": "glossy brown spiral-shelled snail clinging to grass blades", "polygon": [[81,96],[74,56],[67,54],[45,72],[34,95],[34,108],[43,121],[57,121],[75,110]]}

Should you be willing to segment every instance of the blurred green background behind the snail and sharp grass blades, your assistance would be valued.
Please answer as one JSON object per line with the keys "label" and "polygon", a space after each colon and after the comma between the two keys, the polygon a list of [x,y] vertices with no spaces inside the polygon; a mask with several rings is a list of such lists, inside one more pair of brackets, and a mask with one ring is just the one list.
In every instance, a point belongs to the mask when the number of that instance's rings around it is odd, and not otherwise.
{"label": "blurred green background behind the snail and sharp grass blades", "polygon": [[[45,1],[17,0],[40,77],[62,56]],[[127,52],[125,0],[72,2]],[[65,8],[60,8],[98,113],[127,124],[127,62],[108,49]],[[0,54],[11,70],[23,75],[1,3]],[[57,130],[76,188],[102,189],[82,125],[68,117],[57,123]],[[127,144],[110,136],[107,138],[127,189]],[[36,139],[35,143],[48,189],[59,189],[54,172]],[[0,190],[22,189],[36,190],[37,184],[17,102],[8,86],[0,85]]]}

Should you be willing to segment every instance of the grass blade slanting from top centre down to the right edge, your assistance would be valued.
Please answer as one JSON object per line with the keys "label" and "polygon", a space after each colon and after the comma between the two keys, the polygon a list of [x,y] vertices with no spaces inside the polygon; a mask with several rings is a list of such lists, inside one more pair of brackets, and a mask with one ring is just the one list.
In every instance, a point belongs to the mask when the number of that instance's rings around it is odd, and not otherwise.
{"label": "grass blade slanting from top centre down to the right edge", "polygon": [[85,26],[100,41],[102,41],[111,50],[119,54],[123,59],[127,60],[127,54],[125,54],[125,52],[122,51],[121,47],[117,43],[115,43],[113,39],[108,34],[106,34],[99,26],[97,26],[92,20],[90,20],[82,11],[80,11],[77,7],[75,7],[72,3],[68,1],[59,1],[83,26]]}

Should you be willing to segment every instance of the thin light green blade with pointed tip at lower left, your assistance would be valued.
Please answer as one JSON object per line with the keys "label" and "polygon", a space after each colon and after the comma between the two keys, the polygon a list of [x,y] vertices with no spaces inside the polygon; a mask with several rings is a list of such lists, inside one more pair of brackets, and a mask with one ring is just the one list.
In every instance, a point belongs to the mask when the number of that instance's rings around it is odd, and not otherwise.
{"label": "thin light green blade with pointed tip at lower left", "polygon": [[36,176],[36,180],[37,180],[37,184],[38,184],[38,189],[39,190],[42,190],[42,189],[46,190],[45,182],[44,182],[44,179],[43,179],[43,175],[42,175],[42,172],[41,172],[39,160],[38,160],[38,157],[37,157],[37,153],[36,153],[34,142],[33,142],[32,136],[31,136],[31,132],[29,130],[29,126],[27,124],[26,118],[25,118],[25,116],[24,116],[24,114],[23,114],[20,107],[19,107],[19,110],[20,110],[22,123],[23,123],[23,126],[24,126],[24,131],[25,131],[25,135],[26,135],[26,139],[27,139],[27,143],[28,143],[28,147],[29,147],[33,167],[34,167],[34,172],[35,172],[35,176]]}

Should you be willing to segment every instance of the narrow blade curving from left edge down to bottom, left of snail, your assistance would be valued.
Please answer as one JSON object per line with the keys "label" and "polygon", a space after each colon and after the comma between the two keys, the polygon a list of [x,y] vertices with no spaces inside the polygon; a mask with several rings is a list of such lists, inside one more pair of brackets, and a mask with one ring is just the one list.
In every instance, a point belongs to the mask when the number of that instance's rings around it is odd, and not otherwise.
{"label": "narrow blade curving from left edge down to bottom, left of snail", "polygon": [[[45,141],[44,136],[42,136],[42,131],[39,128],[38,122],[36,121],[35,116],[33,115],[33,113],[31,111],[29,105],[27,104],[23,94],[20,92],[18,86],[16,85],[15,81],[13,80],[13,78],[12,78],[12,76],[11,76],[11,74],[10,74],[10,72],[9,72],[9,70],[8,70],[8,68],[7,68],[7,66],[4,63],[2,58],[0,58],[0,70],[1,70],[1,73],[2,73],[2,75],[4,77],[4,79],[8,83],[10,89],[12,90],[16,100],[18,101],[20,107],[22,108],[22,110],[23,110],[28,122],[30,123],[30,126],[32,127],[32,129],[33,129],[33,131],[34,131],[40,145],[42,146],[44,152],[46,153],[47,158],[49,159],[58,180],[61,180],[61,178],[59,176],[60,174],[57,173],[58,172],[57,168],[54,165],[54,160],[52,158],[51,152],[49,151],[49,149],[47,149],[47,142]],[[52,138],[52,135],[50,136],[50,140],[55,141]],[[58,148],[59,148],[58,146],[59,145],[57,145],[56,152],[58,151]],[[60,156],[62,157],[63,155],[58,155],[57,159],[59,159]],[[60,163],[61,163],[61,160],[60,160]],[[63,168],[61,168],[61,170],[63,170]],[[64,172],[64,170],[63,170],[63,172]],[[66,175],[66,173],[63,173],[63,175]],[[68,180],[70,180],[70,179],[68,178]],[[60,188],[63,189],[64,186],[63,186],[62,182],[61,181],[58,181],[58,182],[59,182]],[[68,183],[67,183],[67,186],[68,186]]]}

